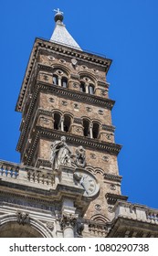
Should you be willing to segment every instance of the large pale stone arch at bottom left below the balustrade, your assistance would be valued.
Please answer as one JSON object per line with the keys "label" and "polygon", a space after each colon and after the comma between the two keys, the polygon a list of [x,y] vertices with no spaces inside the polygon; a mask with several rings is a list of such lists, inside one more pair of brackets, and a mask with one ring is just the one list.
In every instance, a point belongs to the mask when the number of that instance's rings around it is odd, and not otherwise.
{"label": "large pale stone arch at bottom left below the balustrade", "polygon": [[19,224],[16,214],[1,218],[0,238],[51,238],[52,234],[39,220],[30,218],[29,223]]}

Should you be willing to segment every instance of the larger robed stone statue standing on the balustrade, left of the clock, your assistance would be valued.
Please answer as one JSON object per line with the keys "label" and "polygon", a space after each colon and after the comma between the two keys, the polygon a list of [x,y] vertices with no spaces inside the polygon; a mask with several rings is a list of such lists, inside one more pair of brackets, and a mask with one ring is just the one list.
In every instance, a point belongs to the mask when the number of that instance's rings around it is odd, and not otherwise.
{"label": "larger robed stone statue standing on the balustrade, left of the clock", "polygon": [[53,170],[58,170],[60,165],[71,165],[71,151],[66,144],[66,137],[62,136],[60,141],[51,144],[50,162]]}

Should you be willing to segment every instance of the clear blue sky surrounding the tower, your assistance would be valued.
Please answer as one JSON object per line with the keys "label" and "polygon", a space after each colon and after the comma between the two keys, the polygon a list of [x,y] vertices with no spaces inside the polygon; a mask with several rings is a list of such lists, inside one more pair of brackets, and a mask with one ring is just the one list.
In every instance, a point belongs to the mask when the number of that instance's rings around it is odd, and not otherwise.
{"label": "clear blue sky surrounding the tower", "polygon": [[35,37],[49,39],[54,8],[79,46],[113,59],[107,80],[122,194],[158,208],[158,1],[1,0],[0,159],[19,162],[16,100]]}

